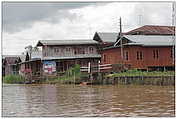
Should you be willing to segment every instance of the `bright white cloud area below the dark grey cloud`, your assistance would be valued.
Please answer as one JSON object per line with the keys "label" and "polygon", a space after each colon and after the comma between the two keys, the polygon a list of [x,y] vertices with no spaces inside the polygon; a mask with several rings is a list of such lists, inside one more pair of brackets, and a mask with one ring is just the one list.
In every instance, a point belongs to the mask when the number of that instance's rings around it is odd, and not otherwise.
{"label": "bright white cloud area below the dark grey cloud", "polygon": [[[156,10],[152,12],[152,9]],[[163,14],[164,10],[167,15]],[[140,14],[143,16],[143,24],[169,25],[170,20],[166,17],[170,17],[170,10],[169,5],[160,7],[158,4],[139,3],[109,3],[78,9],[62,9],[56,11],[56,16],[49,18],[58,19],[55,23],[50,20],[36,21],[29,29],[14,33],[3,32],[3,54],[20,54],[25,46],[30,44],[34,46],[38,40],[88,39],[92,38],[96,31],[118,32],[120,16],[124,31],[138,26]],[[65,13],[70,16],[61,17],[61,14]]]}

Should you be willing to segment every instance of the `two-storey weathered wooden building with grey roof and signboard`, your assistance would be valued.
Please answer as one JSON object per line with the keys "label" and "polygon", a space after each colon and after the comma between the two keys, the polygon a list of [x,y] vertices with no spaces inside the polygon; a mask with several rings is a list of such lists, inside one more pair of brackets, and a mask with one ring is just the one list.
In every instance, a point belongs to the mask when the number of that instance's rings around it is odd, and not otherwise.
{"label": "two-storey weathered wooden building with grey roof and signboard", "polygon": [[68,70],[75,64],[88,66],[98,64],[98,42],[94,40],[40,40],[44,74]]}

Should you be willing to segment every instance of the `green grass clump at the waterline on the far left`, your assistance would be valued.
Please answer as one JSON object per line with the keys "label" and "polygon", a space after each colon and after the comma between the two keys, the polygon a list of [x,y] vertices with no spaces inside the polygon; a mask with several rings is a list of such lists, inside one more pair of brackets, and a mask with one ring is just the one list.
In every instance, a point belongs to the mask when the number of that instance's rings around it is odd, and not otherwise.
{"label": "green grass clump at the waterline on the far left", "polygon": [[7,75],[3,78],[3,83],[20,84],[24,82],[25,78],[20,75]]}

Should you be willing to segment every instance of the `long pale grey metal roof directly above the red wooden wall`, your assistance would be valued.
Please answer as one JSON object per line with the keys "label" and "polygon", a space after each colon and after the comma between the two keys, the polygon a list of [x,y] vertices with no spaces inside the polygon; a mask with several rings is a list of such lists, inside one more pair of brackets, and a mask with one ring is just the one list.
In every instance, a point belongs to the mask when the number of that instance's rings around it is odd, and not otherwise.
{"label": "long pale grey metal roof directly above the red wooden wall", "polygon": [[[171,46],[175,44],[173,36],[124,35],[124,37],[134,42],[133,44],[141,44],[143,46]],[[132,43],[129,44],[133,45]]]}

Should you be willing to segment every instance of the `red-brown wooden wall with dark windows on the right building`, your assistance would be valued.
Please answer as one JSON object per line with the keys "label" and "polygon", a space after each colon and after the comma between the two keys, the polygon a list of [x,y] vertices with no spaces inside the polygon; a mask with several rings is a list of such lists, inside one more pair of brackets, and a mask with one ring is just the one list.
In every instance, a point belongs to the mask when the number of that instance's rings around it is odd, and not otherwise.
{"label": "red-brown wooden wall with dark windows on the right building", "polygon": [[138,69],[147,69],[150,66],[174,66],[172,47],[126,46],[123,48],[123,54],[121,60],[121,48],[103,50],[101,63],[117,64],[123,61]]}

